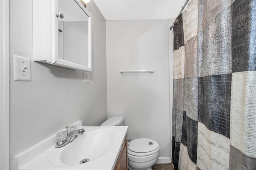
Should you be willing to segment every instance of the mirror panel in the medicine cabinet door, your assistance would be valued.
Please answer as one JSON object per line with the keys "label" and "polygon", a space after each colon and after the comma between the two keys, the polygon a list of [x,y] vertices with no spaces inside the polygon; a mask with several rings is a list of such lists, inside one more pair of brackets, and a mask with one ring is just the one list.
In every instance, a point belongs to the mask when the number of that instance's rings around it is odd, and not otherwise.
{"label": "mirror panel in the medicine cabinet door", "polygon": [[58,0],[58,12],[59,59],[89,67],[89,16],[74,0]]}

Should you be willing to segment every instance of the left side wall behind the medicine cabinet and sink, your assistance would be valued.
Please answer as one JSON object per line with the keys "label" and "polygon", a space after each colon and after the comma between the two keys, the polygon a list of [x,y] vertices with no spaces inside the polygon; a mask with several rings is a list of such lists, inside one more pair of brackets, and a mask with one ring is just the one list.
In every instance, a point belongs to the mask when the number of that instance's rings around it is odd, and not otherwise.
{"label": "left side wall behind the medicine cabinet and sink", "polygon": [[107,119],[106,21],[91,1],[92,73],[31,61],[32,81],[13,81],[13,55],[32,59],[32,0],[10,0],[10,160],[77,120]]}

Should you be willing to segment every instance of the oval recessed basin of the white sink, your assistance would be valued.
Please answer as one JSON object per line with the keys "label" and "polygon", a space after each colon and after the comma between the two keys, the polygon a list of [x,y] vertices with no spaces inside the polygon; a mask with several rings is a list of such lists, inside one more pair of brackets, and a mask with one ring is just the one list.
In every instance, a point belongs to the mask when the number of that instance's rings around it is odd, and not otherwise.
{"label": "oval recessed basin of the white sink", "polygon": [[[62,164],[76,166],[83,159],[89,159],[90,162],[95,161],[117,145],[117,133],[118,130],[113,128],[87,129],[83,135],[78,135],[68,145],[50,150],[47,153],[47,159],[51,164],[57,166],[62,166]],[[89,161],[84,163],[89,163]]]}

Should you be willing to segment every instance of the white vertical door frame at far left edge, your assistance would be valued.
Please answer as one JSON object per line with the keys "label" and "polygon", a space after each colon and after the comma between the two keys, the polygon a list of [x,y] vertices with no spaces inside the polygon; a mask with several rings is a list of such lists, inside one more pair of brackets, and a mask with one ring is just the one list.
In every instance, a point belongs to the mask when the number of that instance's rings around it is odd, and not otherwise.
{"label": "white vertical door frame at far left edge", "polygon": [[0,0],[0,169],[10,169],[10,0]]}

